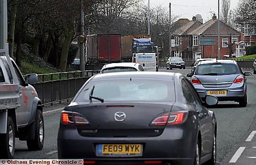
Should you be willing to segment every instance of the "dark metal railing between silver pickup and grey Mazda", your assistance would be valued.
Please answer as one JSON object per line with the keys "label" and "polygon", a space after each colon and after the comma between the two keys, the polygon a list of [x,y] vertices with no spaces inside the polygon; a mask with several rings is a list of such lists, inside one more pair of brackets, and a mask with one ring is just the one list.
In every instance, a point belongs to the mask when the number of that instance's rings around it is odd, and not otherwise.
{"label": "dark metal railing between silver pickup and grey Mazda", "polygon": [[42,104],[51,104],[71,100],[83,84],[100,70],[84,72],[62,72],[38,74],[38,83],[32,84],[41,99]]}

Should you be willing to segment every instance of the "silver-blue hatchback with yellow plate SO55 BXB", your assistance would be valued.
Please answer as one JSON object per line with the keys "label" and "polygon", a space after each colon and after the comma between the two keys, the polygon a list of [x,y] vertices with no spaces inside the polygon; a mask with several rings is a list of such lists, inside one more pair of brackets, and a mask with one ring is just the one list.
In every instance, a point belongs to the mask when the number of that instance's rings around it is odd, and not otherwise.
{"label": "silver-blue hatchback with yellow plate SO55 BXB", "polygon": [[247,105],[247,82],[236,61],[215,60],[202,61],[194,74],[190,73],[191,82],[199,96],[204,100],[206,95],[218,97],[219,101],[237,101],[240,107]]}

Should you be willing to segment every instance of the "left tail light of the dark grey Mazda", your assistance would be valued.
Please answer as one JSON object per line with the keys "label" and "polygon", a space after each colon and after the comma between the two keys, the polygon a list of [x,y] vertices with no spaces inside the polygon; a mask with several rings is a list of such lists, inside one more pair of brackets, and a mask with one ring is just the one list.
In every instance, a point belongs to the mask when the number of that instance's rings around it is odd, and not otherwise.
{"label": "left tail light of the dark grey Mazda", "polygon": [[62,112],[62,122],[70,125],[88,125],[89,122],[83,115],[75,112]]}

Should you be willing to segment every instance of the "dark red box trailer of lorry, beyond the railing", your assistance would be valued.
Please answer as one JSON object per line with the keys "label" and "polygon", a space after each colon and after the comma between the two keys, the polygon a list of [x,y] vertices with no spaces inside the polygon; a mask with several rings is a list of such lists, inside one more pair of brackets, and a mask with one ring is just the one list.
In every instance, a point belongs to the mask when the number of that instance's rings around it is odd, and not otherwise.
{"label": "dark red box trailer of lorry, beyond the railing", "polygon": [[87,35],[88,63],[116,63],[121,61],[121,34]]}

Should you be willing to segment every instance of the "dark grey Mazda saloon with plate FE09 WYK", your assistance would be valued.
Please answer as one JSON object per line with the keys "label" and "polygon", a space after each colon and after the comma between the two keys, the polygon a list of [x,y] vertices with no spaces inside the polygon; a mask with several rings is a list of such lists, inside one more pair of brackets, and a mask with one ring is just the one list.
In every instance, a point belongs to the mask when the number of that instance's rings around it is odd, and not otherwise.
{"label": "dark grey Mazda saloon with plate FE09 WYK", "polygon": [[[205,104],[217,103],[206,96]],[[58,157],[84,164],[215,164],[216,126],[181,74],[98,74],[61,114]]]}

